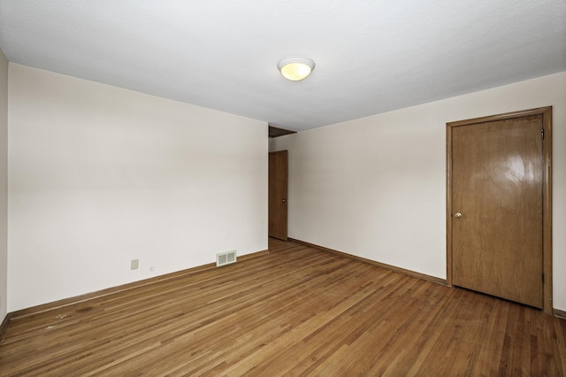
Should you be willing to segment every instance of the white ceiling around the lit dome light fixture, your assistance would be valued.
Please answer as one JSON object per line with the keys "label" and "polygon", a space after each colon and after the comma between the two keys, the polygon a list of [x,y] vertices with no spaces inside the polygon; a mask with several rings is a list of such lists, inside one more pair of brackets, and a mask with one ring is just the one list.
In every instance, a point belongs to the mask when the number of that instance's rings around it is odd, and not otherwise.
{"label": "white ceiling around the lit dome light fixture", "polygon": [[[0,47],[301,131],[566,71],[566,1],[0,0]],[[294,54],[305,81],[277,71]]]}

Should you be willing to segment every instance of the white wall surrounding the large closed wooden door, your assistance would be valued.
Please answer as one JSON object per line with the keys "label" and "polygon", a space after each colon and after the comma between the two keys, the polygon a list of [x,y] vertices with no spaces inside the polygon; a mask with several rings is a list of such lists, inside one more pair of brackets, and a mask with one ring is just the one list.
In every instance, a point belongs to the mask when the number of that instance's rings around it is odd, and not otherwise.
{"label": "white wall surrounding the large closed wooden door", "polygon": [[289,236],[446,279],[446,123],[553,107],[554,307],[566,310],[566,73],[272,139]]}

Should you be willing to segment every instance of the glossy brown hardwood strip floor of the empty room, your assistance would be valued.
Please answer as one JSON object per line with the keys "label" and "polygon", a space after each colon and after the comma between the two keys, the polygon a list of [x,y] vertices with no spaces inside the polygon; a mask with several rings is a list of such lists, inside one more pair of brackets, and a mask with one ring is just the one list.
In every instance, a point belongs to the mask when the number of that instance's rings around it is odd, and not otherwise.
{"label": "glossy brown hardwood strip floor of the empty room", "polygon": [[295,242],[14,319],[0,375],[566,374],[566,320]]}

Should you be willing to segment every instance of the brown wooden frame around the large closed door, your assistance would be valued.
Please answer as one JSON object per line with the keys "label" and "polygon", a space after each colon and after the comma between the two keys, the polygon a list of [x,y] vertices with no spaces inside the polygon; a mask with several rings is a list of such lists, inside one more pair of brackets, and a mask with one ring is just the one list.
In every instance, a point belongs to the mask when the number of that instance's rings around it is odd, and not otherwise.
{"label": "brown wooden frame around the large closed door", "polygon": [[447,166],[446,166],[446,229],[447,229],[447,285],[453,286],[452,274],[452,130],[459,126],[473,126],[488,121],[522,118],[542,115],[544,138],[542,140],[544,176],[542,178],[542,292],[543,311],[553,314],[552,303],[552,106],[519,112],[506,112],[481,118],[458,120],[446,124]]}

